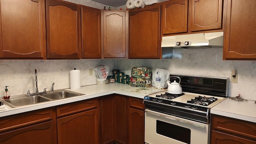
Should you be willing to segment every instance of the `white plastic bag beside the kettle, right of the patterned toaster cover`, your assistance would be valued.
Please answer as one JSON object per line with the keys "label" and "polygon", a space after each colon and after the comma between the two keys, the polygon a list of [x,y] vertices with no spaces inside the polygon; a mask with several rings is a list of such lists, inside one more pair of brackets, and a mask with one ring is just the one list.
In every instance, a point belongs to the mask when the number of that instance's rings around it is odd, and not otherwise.
{"label": "white plastic bag beside the kettle, right of the patterned toaster cover", "polygon": [[170,73],[168,70],[157,68],[156,71],[152,75],[152,86],[161,89],[168,87],[166,83],[169,81]]}

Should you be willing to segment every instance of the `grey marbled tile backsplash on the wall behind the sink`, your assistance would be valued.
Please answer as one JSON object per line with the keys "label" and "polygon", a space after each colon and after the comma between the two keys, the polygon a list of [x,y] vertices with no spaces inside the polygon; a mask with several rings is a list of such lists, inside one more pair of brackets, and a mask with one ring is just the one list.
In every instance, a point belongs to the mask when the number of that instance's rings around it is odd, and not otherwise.
{"label": "grey marbled tile backsplash on the wall behind the sink", "polygon": [[116,60],[0,60],[0,92],[9,86],[11,94],[26,94],[28,90],[35,92],[35,69],[37,69],[38,90],[70,88],[70,70],[81,71],[81,86],[96,84],[96,75],[89,76],[89,69],[100,64],[114,69]]}

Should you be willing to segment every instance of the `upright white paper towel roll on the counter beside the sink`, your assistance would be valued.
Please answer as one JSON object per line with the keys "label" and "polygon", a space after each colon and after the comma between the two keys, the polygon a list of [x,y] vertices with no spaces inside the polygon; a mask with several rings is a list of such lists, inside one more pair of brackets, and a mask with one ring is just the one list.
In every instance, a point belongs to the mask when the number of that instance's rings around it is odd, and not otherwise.
{"label": "upright white paper towel roll on the counter beside the sink", "polygon": [[70,89],[77,90],[80,85],[80,70],[70,70]]}

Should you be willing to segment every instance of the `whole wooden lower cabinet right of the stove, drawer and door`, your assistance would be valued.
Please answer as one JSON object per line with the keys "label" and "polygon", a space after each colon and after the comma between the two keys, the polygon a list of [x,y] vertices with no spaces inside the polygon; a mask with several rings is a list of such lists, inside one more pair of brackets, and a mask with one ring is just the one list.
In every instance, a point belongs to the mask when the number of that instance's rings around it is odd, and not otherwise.
{"label": "whole wooden lower cabinet right of the stove, drawer and door", "polygon": [[210,144],[256,144],[256,124],[211,115]]}

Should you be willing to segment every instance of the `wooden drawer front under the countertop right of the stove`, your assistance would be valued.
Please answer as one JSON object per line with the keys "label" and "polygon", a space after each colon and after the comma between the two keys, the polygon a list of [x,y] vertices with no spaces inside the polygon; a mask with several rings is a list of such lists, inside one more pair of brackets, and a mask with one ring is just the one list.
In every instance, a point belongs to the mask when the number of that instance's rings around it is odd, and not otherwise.
{"label": "wooden drawer front under the countertop right of the stove", "polygon": [[213,129],[224,130],[233,134],[256,139],[256,124],[218,115],[212,115],[212,117]]}

